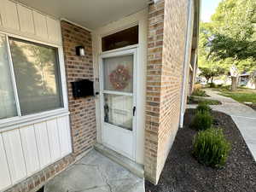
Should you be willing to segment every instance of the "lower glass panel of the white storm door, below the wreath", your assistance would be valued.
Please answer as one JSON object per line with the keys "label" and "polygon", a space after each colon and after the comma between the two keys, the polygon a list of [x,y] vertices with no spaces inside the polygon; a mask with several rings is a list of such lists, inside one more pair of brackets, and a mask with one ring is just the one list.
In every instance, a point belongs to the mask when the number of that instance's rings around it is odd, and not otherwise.
{"label": "lower glass panel of the white storm door, below the wreath", "polygon": [[132,131],[132,96],[104,94],[104,121]]}

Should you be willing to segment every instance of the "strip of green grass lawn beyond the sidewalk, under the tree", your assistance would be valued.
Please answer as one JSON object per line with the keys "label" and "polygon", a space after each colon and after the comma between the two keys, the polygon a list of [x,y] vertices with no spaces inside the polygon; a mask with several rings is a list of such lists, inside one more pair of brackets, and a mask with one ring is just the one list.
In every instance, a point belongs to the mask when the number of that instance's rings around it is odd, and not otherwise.
{"label": "strip of green grass lawn beyond the sidewalk, under the tree", "polygon": [[252,102],[256,104],[256,90],[239,88],[236,91],[230,91],[227,89],[218,89],[221,96],[229,96],[237,102]]}

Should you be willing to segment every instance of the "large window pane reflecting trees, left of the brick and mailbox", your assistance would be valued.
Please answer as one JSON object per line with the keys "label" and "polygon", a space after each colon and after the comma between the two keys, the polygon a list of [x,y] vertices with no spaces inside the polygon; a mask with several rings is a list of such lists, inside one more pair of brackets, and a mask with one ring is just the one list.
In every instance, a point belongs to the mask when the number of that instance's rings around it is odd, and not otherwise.
{"label": "large window pane reflecting trees, left of the brick and mailbox", "polygon": [[10,38],[22,115],[62,108],[56,48]]}

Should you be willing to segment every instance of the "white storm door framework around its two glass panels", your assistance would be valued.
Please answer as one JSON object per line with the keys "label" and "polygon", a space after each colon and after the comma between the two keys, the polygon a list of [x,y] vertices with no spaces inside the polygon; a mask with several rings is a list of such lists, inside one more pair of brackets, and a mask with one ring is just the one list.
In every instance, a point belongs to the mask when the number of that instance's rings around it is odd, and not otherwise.
{"label": "white storm door framework around its two glass panels", "polygon": [[[119,91],[108,91],[104,90],[103,88],[103,59],[114,57],[114,56],[122,56],[122,55],[133,55],[133,92],[132,93],[125,93],[125,92],[119,92]],[[122,128],[117,128],[116,125],[111,125],[106,122],[104,122],[104,93],[114,93],[116,95],[122,95],[122,96],[132,96],[133,97],[133,106],[137,107],[137,62],[138,62],[138,55],[137,55],[137,45],[135,46],[128,46],[126,48],[121,49],[114,49],[111,51],[102,52],[102,55],[100,55],[99,58],[100,61],[100,99],[101,99],[101,131],[102,131],[102,144],[105,145],[108,148],[112,148],[119,154],[125,155],[126,157],[130,158],[131,160],[136,160],[136,148],[137,148],[137,111],[135,111],[135,115],[132,118],[132,131],[125,130]],[[104,127],[110,127],[111,129],[116,129],[116,131],[120,131],[124,134],[131,134],[132,137],[132,153],[128,154],[125,153],[125,151],[121,151],[114,146],[110,146],[108,143],[104,140]],[[117,130],[118,129],[118,130]]]}

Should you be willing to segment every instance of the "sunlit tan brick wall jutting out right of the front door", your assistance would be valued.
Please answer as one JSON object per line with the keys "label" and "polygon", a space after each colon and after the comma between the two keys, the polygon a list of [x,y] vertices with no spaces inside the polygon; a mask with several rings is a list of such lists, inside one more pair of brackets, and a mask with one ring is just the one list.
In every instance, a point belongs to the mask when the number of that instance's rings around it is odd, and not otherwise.
{"label": "sunlit tan brick wall jutting out right of the front door", "polygon": [[187,0],[161,0],[148,10],[145,177],[152,183],[177,133],[188,6]]}

